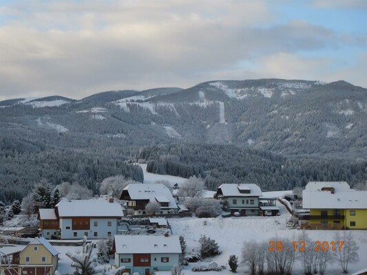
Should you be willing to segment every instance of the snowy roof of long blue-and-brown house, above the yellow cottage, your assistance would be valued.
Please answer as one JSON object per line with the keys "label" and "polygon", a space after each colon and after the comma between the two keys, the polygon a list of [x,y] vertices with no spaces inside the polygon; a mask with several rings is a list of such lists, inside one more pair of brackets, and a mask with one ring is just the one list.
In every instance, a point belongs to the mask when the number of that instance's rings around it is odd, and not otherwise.
{"label": "snowy roof of long blue-and-brown house, above the yellow cottage", "polygon": [[106,199],[63,199],[56,204],[59,217],[123,217],[123,207]]}

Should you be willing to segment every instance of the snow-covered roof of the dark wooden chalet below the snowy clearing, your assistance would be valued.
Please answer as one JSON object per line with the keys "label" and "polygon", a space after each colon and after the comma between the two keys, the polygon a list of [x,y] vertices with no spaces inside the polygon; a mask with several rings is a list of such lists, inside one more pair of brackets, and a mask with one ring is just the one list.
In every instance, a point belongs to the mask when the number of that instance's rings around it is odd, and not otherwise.
{"label": "snow-covered roof of the dark wooden chalet below the snowy clearing", "polygon": [[159,198],[163,200],[160,202],[168,202],[168,208],[177,208],[171,191],[164,184],[129,184],[123,190],[129,192],[132,200],[157,201],[156,198]]}

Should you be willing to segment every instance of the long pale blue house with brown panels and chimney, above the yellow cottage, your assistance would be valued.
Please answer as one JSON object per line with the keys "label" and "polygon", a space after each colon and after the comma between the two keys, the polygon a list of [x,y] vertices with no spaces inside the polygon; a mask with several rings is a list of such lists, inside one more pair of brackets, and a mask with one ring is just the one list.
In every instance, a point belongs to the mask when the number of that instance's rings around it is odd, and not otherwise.
{"label": "long pale blue house with brown panels and chimney, above the yellow cottage", "polygon": [[114,199],[63,199],[54,209],[39,210],[40,231],[46,239],[55,232],[58,239],[105,239],[117,234],[122,217],[123,207]]}

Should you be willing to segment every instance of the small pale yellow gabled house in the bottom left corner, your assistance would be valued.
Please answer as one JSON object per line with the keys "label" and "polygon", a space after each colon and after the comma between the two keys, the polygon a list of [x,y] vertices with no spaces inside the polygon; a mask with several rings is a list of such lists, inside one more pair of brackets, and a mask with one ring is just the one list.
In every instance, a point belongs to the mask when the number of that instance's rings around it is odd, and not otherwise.
{"label": "small pale yellow gabled house in the bottom left corner", "polygon": [[57,261],[57,250],[43,237],[33,239],[23,250],[0,255],[0,273],[6,275],[52,275]]}

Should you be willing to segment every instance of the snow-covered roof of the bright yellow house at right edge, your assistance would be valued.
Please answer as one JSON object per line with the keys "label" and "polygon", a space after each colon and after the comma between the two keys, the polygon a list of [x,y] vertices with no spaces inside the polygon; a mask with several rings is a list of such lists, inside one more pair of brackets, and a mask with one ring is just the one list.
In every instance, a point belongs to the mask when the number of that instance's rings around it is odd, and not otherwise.
{"label": "snow-covered roof of the bright yellow house at right edge", "polygon": [[345,181],[312,181],[302,192],[302,207],[306,209],[367,209],[366,198],[367,191],[350,189]]}

